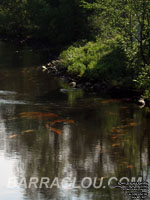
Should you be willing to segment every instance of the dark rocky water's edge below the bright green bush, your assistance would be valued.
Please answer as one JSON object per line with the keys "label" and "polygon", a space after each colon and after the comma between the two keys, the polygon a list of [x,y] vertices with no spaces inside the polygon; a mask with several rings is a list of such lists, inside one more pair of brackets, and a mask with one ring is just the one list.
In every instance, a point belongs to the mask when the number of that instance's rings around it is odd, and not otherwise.
{"label": "dark rocky water's edge below the bright green bush", "polygon": [[110,94],[116,98],[126,97],[130,98],[131,101],[137,102],[141,97],[141,92],[127,87],[111,87],[107,82],[97,82],[90,81],[84,77],[77,77],[76,75],[70,74],[67,72],[66,68],[60,66],[59,59],[52,60],[46,65],[42,66],[42,71],[53,74],[55,77],[58,77],[64,80],[70,87],[83,89],[85,92],[95,92]]}

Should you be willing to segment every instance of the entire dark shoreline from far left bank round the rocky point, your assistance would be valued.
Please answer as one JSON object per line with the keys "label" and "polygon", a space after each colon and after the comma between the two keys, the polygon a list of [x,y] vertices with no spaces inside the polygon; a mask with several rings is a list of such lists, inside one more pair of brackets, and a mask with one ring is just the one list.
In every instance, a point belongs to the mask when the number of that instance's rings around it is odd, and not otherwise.
{"label": "entire dark shoreline from far left bank round the rocky point", "polygon": [[[47,63],[46,65],[42,66],[42,71],[45,71],[47,73],[53,74],[54,76],[64,80],[70,87],[73,88],[79,88],[83,89],[85,92],[95,92],[95,93],[102,93],[105,95],[110,95],[114,98],[130,98],[132,102],[138,103],[138,100],[141,97],[141,92],[137,91],[133,88],[129,87],[111,87],[107,84],[105,81],[95,81],[95,80],[88,80],[85,77],[78,77],[76,75],[70,74],[67,72],[66,68],[63,68],[60,65],[60,61],[58,59],[59,47],[53,48],[53,46],[50,46],[50,44],[43,43],[43,41],[36,41],[33,39],[29,40],[20,40],[17,38],[16,40],[13,40],[13,38],[4,38],[2,37],[0,39],[2,42],[11,42],[18,45],[28,45],[31,46],[33,49],[38,48],[48,48],[49,51],[52,50],[53,56],[51,62]],[[22,42],[23,41],[23,42]],[[59,49],[59,51],[58,51]],[[56,59],[55,59],[56,58]],[[51,60],[51,59],[50,59]],[[149,104],[149,102],[148,102]]]}

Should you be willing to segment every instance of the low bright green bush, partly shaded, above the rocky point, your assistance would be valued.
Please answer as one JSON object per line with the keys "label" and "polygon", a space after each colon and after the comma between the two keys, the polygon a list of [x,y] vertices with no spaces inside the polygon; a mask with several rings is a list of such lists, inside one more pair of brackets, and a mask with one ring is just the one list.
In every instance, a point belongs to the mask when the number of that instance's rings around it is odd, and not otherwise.
{"label": "low bright green bush, partly shaded, above the rocky point", "polygon": [[71,46],[60,54],[60,61],[71,74],[109,84],[123,84],[128,73],[119,37]]}

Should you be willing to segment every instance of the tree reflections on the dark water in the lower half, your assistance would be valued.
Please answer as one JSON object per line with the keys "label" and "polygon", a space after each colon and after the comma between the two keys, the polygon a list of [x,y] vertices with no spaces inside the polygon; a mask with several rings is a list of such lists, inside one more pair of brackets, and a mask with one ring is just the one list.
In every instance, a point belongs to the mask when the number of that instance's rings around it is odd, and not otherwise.
{"label": "tree reflections on the dark water in the lower half", "polygon": [[[82,100],[79,100],[82,101]],[[90,106],[89,106],[89,101]],[[75,124],[56,123],[62,131],[58,135],[46,129],[48,119],[26,119],[19,113],[31,110],[27,105],[3,105],[1,110],[1,151],[10,159],[17,155],[14,166],[19,181],[26,177],[55,177],[62,180],[77,179],[77,185],[84,177],[138,177],[149,179],[149,122],[143,112],[124,102],[101,104],[100,99],[85,99],[67,110],[59,107],[56,114],[63,113]],[[124,108],[126,106],[126,108]],[[39,109],[38,106],[34,109]],[[32,107],[32,110],[34,110]],[[40,107],[41,109],[41,107]],[[50,109],[50,108],[49,108]],[[80,113],[80,114],[79,114]],[[14,118],[16,117],[16,118]],[[14,119],[13,119],[14,118]],[[11,120],[12,119],[12,120]],[[133,126],[134,124],[134,126]],[[140,125],[139,125],[140,124]],[[21,134],[23,130],[35,132]],[[18,134],[10,139],[9,136]],[[116,145],[117,144],[117,145]],[[7,171],[7,169],[6,169]],[[51,183],[50,182],[50,183]],[[125,198],[120,191],[106,190],[67,190],[67,189],[24,189],[24,198],[59,199],[78,197],[79,199]],[[98,196],[98,197],[97,197]]]}

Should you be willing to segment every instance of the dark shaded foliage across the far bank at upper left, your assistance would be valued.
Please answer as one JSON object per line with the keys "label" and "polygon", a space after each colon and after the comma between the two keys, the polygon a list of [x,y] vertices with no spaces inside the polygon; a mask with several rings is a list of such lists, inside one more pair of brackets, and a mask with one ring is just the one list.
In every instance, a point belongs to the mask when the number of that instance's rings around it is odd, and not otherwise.
{"label": "dark shaded foliage across the far bank at upper left", "polygon": [[79,0],[1,0],[0,34],[66,45],[86,31]]}

